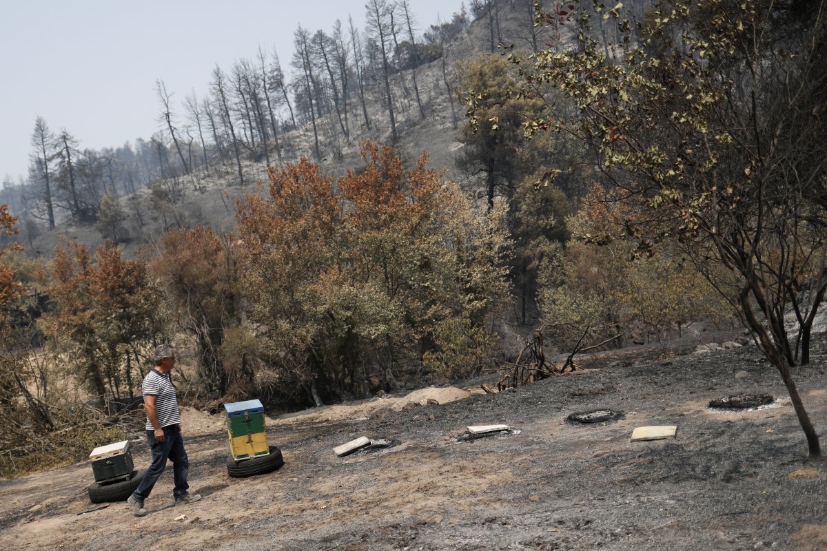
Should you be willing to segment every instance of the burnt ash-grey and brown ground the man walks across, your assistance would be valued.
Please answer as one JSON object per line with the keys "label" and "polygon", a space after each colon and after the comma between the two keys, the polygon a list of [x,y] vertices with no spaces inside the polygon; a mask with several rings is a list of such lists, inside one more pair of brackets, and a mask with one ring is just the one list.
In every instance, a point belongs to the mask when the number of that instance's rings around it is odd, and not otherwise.
{"label": "burnt ash-grey and brown ground the man walks across", "polygon": [[[824,443],[824,335],[811,354],[794,377]],[[93,506],[86,463],[0,481],[0,549],[827,549],[825,463],[805,460],[775,369],[752,345],[655,355],[624,349],[580,373],[369,418],[271,419],[286,463],[258,477],[227,477],[226,434],[196,435],[190,482],[204,499],[171,506],[168,469],[140,519],[125,503],[79,515]],[[739,393],[780,400],[707,407]],[[566,422],[596,409],[624,418]],[[489,424],[520,433],[457,442]],[[643,425],[676,425],[676,438],[631,442]],[[359,436],[400,444],[332,454]],[[135,444],[136,467],[148,456]]]}

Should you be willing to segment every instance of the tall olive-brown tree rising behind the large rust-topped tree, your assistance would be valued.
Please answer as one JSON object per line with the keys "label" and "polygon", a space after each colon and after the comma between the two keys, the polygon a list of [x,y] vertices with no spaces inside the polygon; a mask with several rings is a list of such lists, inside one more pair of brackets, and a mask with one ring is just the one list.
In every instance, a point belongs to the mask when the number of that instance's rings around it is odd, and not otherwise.
{"label": "tall olive-brown tree rising behind the large rust-topped tree", "polygon": [[[460,141],[457,159],[463,172],[480,176],[489,208],[496,197],[509,200],[507,216],[514,239],[511,278],[517,295],[519,321],[528,323],[534,311],[538,267],[549,247],[565,239],[570,197],[579,191],[573,174],[582,165],[581,152],[557,135],[523,140],[524,122],[543,112],[539,97],[519,97],[514,67],[500,55],[480,55],[458,64],[460,83],[473,108]],[[538,169],[543,167],[543,169]],[[547,185],[550,175],[557,184]],[[565,189],[565,191],[563,191]]]}

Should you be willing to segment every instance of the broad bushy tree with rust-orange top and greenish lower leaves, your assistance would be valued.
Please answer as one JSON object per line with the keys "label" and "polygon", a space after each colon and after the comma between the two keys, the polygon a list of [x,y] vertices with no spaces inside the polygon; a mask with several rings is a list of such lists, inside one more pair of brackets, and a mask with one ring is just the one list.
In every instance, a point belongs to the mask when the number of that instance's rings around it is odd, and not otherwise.
{"label": "broad bushy tree with rust-orange top and greenish lower leaves", "polygon": [[333,395],[392,386],[426,356],[471,373],[505,292],[502,216],[478,216],[425,156],[405,169],[387,146],[362,154],[364,169],[336,180],[306,160],[273,170],[269,197],[239,203],[242,286],[268,362]]}

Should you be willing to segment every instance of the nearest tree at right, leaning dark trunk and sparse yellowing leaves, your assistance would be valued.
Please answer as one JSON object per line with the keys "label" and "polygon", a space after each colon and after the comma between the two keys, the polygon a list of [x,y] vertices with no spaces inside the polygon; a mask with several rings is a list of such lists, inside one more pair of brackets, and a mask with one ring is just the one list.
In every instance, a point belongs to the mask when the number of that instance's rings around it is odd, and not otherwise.
{"label": "nearest tree at right, leaning dark trunk and sparse yellowing leaves", "polygon": [[[554,88],[576,107],[539,114],[528,133],[586,143],[614,197],[636,211],[638,223],[623,233],[638,253],[674,240],[724,297],[735,297],[781,374],[810,457],[819,456],[791,366],[809,361],[827,290],[827,2],[662,0],[639,38],[622,4],[596,2],[625,31],[617,59],[590,38],[591,7],[574,3],[574,47],[511,58],[520,95]],[[718,278],[720,268],[731,277]]]}

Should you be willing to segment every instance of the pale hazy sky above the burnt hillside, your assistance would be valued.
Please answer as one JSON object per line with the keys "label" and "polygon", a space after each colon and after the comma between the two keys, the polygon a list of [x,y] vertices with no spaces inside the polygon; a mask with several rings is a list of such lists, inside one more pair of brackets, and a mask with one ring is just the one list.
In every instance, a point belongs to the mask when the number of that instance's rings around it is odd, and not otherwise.
{"label": "pale hazy sky above the burnt hillside", "polygon": [[[450,20],[462,0],[410,0],[421,31]],[[258,46],[292,74],[293,33],[332,31],[347,17],[364,30],[364,0],[22,0],[2,2],[0,180],[25,176],[36,116],[80,146],[117,147],[160,130],[155,80],[174,108],[207,93],[215,64],[232,69]]]}

